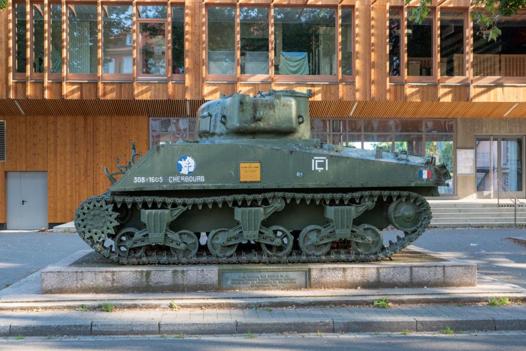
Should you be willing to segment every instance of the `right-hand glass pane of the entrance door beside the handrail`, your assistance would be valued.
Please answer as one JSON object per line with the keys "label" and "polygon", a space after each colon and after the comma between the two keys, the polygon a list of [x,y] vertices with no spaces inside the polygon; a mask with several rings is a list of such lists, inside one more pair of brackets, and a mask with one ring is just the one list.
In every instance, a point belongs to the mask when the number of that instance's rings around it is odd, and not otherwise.
{"label": "right-hand glass pane of the entrance door beside the handrail", "polygon": [[522,138],[502,138],[502,190],[522,191]]}

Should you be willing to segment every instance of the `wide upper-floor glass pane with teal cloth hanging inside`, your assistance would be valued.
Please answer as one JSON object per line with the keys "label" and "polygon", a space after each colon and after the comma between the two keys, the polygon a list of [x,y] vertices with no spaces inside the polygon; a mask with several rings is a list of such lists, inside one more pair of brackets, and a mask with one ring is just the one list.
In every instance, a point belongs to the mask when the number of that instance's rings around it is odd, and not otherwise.
{"label": "wide upper-floor glass pane with teal cloth hanging inside", "polygon": [[336,9],[274,8],[275,73],[336,75]]}

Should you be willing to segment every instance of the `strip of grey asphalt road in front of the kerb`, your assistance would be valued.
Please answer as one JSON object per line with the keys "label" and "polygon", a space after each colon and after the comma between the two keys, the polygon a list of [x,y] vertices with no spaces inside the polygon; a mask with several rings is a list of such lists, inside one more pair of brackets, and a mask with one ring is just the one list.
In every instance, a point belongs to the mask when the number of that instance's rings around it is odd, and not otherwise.
{"label": "strip of grey asphalt road in front of the kerb", "polygon": [[167,337],[73,337],[0,339],[0,349],[9,350],[523,350],[526,333],[442,334],[301,334]]}

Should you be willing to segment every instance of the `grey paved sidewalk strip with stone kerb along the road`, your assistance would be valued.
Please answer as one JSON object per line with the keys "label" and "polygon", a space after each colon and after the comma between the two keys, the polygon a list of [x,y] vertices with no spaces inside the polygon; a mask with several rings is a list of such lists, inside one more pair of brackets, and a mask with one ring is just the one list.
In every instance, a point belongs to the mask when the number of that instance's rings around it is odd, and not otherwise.
{"label": "grey paved sidewalk strip with stone kerb along the road", "polygon": [[0,336],[524,330],[526,306],[2,312]]}

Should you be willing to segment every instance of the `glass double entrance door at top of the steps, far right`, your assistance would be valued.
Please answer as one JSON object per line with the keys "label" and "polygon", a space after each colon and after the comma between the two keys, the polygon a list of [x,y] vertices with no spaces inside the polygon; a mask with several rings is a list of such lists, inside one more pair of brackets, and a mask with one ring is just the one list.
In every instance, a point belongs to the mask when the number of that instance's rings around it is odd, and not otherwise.
{"label": "glass double entrance door at top of the steps, far right", "polygon": [[524,197],[523,136],[481,136],[476,139],[477,197]]}

